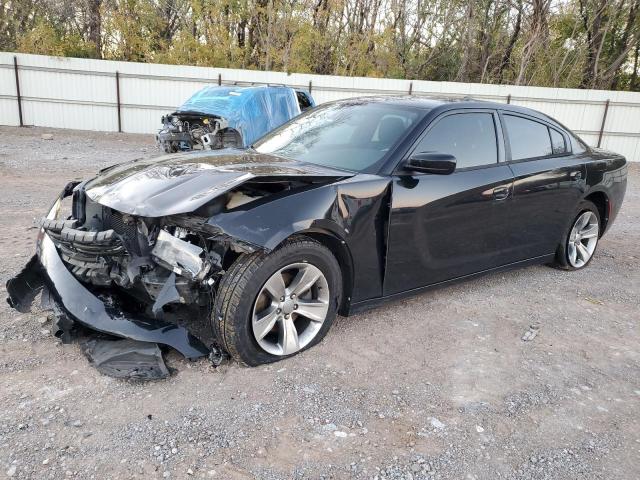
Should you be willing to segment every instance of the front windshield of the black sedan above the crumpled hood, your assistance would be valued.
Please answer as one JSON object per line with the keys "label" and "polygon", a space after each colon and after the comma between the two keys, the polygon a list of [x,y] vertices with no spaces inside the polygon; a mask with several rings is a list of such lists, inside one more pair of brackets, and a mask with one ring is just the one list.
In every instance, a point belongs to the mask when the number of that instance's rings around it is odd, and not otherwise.
{"label": "front windshield of the black sedan above the crumpled hood", "polygon": [[298,161],[371,172],[426,113],[384,102],[329,104],[262,137],[253,148]]}

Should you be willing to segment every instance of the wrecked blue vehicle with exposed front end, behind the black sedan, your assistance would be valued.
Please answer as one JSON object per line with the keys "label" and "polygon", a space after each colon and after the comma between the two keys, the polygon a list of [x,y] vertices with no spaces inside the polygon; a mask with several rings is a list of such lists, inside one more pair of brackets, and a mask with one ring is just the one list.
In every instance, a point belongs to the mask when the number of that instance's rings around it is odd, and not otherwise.
{"label": "wrecked blue vehicle with exposed front end, behind the black sedan", "polygon": [[313,106],[308,92],[285,86],[208,86],[162,116],[156,143],[166,153],[244,148]]}

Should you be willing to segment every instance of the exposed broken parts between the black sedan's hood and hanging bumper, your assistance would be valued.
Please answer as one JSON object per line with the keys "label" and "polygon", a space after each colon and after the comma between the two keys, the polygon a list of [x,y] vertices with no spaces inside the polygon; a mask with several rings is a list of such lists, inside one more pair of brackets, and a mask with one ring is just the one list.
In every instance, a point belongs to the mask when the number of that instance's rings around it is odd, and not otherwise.
{"label": "exposed broken parts between the black sedan's hood and hanging bumper", "polygon": [[[82,196],[82,190],[75,197]],[[74,200],[76,203],[77,200]],[[82,208],[82,207],[80,207]],[[172,302],[199,303],[220,258],[206,241],[163,219],[122,214],[84,199],[81,219],[43,219],[41,227],[73,276],[94,287],[115,287],[151,305],[154,316]],[[205,281],[206,280],[206,281]]]}

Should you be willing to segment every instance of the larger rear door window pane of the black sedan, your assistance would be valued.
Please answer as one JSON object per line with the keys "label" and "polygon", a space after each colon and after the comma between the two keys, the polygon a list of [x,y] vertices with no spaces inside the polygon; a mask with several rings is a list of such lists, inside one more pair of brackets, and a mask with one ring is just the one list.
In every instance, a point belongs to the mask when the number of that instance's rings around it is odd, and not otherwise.
{"label": "larger rear door window pane of the black sedan", "polygon": [[546,157],[552,154],[551,138],[546,125],[514,115],[504,115],[503,118],[509,134],[511,160]]}

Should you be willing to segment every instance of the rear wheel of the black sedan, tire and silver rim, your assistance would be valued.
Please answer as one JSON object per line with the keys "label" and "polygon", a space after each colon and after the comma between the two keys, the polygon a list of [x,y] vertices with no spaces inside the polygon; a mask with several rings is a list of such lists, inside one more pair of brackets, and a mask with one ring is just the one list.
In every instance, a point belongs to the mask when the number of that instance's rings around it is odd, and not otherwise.
{"label": "rear wheel of the black sedan, tire and silver rim", "polygon": [[600,213],[593,203],[584,201],[579,205],[578,213],[564,237],[556,253],[558,266],[566,270],[586,267],[593,258],[600,238]]}

